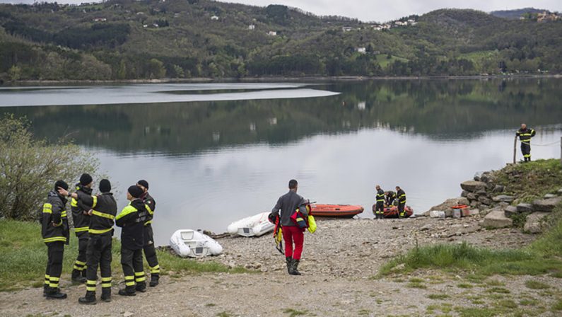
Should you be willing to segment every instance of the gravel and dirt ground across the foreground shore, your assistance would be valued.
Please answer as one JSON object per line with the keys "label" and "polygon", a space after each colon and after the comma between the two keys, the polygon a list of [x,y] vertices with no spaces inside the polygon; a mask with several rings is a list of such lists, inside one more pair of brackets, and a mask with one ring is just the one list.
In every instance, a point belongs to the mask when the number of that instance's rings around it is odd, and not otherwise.
{"label": "gravel and dirt ground across the foreground shore", "polygon": [[[42,289],[4,292],[0,293],[0,315],[471,316],[463,315],[463,309],[491,306],[506,312],[525,309],[537,316],[561,316],[552,309],[562,300],[562,281],[554,277],[491,277],[469,283],[443,272],[421,272],[402,278],[370,278],[388,258],[413,247],[414,236],[420,245],[467,241],[493,248],[515,248],[534,238],[514,229],[481,231],[477,219],[320,221],[317,233],[305,236],[300,277],[286,274],[283,256],[269,235],[223,238],[219,242],[225,253],[206,260],[262,272],[165,276],[158,287],[135,297],[118,296],[114,287],[113,301],[95,306],[78,304],[78,296],[85,293],[83,285],[63,284],[69,294],[64,301],[43,299]],[[529,279],[546,287],[529,289],[525,286]]]}

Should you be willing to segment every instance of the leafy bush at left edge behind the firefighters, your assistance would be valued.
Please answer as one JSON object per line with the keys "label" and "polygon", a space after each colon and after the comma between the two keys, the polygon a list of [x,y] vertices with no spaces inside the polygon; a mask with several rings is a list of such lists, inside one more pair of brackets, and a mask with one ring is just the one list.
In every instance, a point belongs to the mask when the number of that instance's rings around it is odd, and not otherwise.
{"label": "leafy bush at left edge behind the firefighters", "polygon": [[98,170],[98,160],[80,147],[35,140],[29,127],[13,115],[0,120],[0,217],[7,219],[36,219],[55,181],[72,184],[81,173]]}

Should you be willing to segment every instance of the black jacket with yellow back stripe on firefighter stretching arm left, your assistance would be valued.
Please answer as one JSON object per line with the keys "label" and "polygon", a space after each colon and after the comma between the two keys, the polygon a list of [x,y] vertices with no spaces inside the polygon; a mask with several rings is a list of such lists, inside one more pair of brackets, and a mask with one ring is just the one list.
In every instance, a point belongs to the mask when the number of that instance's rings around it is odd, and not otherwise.
{"label": "black jacket with yellow back stripe on firefighter stretching arm left", "polygon": [[111,192],[94,196],[90,219],[90,234],[113,235],[113,223],[117,214],[117,202]]}

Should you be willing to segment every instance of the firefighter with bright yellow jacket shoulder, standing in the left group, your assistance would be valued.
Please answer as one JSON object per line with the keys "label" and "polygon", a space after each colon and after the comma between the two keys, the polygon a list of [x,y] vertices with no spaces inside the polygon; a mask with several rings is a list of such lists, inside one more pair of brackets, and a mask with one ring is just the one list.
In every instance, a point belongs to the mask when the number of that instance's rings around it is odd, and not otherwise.
{"label": "firefighter with bright yellow jacket shoulder, standing in the left group", "polygon": [[146,277],[143,270],[144,223],[148,211],[139,198],[143,191],[132,185],[127,190],[129,205],[115,217],[115,224],[121,231],[121,265],[125,277],[125,288],[119,295],[135,296],[136,291],[146,292]]}

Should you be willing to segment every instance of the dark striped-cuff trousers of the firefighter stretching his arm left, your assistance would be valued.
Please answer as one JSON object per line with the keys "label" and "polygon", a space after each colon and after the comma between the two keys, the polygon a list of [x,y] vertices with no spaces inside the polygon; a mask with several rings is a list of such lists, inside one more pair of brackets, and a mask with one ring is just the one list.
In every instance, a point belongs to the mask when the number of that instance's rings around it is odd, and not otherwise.
{"label": "dark striped-cuff trousers of the firefighter stretching his arm left", "polygon": [[102,277],[102,289],[111,288],[111,247],[112,232],[108,234],[90,234],[86,258],[88,258],[86,269],[86,290],[95,292],[95,281],[98,279],[98,265]]}

